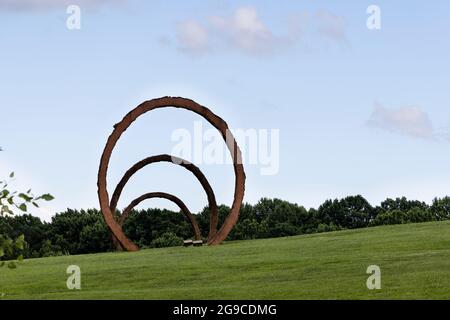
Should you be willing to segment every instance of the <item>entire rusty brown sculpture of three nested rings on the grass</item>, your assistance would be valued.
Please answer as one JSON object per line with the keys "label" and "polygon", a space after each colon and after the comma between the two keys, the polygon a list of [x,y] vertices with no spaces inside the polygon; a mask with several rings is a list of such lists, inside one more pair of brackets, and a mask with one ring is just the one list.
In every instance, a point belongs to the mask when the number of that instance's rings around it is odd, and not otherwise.
{"label": "entire rusty brown sculpture of three nested rings on the grass", "polygon": [[[158,108],[167,108],[167,107],[173,107],[173,108],[181,108],[186,109],[189,111],[193,111],[199,115],[201,115],[203,118],[205,118],[211,125],[213,125],[221,134],[222,138],[224,139],[228,150],[231,153],[231,159],[233,161],[233,167],[234,167],[234,174],[235,174],[235,189],[234,189],[234,199],[231,206],[231,211],[228,217],[225,219],[225,222],[221,226],[221,228],[217,231],[217,204],[215,201],[214,193],[211,189],[211,186],[209,185],[208,181],[204,177],[204,175],[201,173],[201,171],[194,166],[191,163],[185,162],[183,159],[179,159],[176,157],[172,157],[170,155],[160,155],[160,156],[154,156],[146,158],[138,163],[136,163],[133,167],[131,167],[124,175],[122,180],[119,182],[119,184],[116,187],[116,190],[113,194],[113,197],[111,199],[111,203],[109,201],[109,194],[107,190],[107,182],[106,182],[106,176],[108,172],[108,165],[111,158],[112,151],[121,137],[122,133],[125,132],[128,127],[141,115],[143,115],[146,112],[149,112],[154,109]],[[183,213],[189,218],[193,216],[190,214],[187,207],[184,205],[181,200],[178,198],[164,193],[149,193],[145,194],[137,199],[135,199],[128,207],[125,209],[125,211],[122,214],[122,218],[120,218],[122,223],[119,221],[116,221],[114,218],[114,213],[117,207],[117,202],[120,197],[121,191],[123,190],[123,187],[129,180],[129,178],[137,172],[139,169],[143,168],[147,164],[154,163],[154,162],[173,162],[176,164],[180,164],[186,169],[190,170],[200,181],[203,188],[205,189],[207,195],[208,195],[208,202],[209,202],[209,208],[210,208],[210,230],[208,235],[208,244],[209,245],[217,245],[220,244],[223,240],[226,239],[234,225],[236,224],[238,217],[239,217],[239,210],[241,208],[242,200],[244,198],[244,191],[245,191],[245,172],[244,167],[242,165],[242,155],[241,151],[236,143],[236,140],[234,139],[233,135],[231,134],[230,130],[228,129],[227,123],[215,115],[211,110],[208,108],[199,105],[198,103],[181,98],[181,97],[163,97],[159,99],[153,99],[149,101],[145,101],[139,106],[137,106],[134,110],[129,112],[121,122],[114,125],[114,130],[111,133],[111,135],[108,138],[108,141],[106,143],[105,149],[103,150],[103,154],[100,160],[100,167],[98,171],[98,180],[97,180],[97,186],[98,186],[98,197],[100,201],[100,208],[103,213],[103,217],[105,219],[106,224],[108,225],[108,228],[110,229],[113,238],[117,239],[120,246],[127,250],[127,251],[137,251],[139,250],[138,246],[133,243],[123,232],[121,224],[123,223],[124,219],[126,219],[126,216],[128,216],[129,211],[134,208],[139,202],[152,197],[159,197],[163,196],[163,198],[167,198],[171,201],[174,201],[177,203]],[[125,214],[126,213],[126,214]],[[188,214],[189,213],[189,214]],[[195,219],[190,219],[191,225],[193,226],[194,233],[196,233],[196,221]],[[198,226],[197,226],[198,229]]]}

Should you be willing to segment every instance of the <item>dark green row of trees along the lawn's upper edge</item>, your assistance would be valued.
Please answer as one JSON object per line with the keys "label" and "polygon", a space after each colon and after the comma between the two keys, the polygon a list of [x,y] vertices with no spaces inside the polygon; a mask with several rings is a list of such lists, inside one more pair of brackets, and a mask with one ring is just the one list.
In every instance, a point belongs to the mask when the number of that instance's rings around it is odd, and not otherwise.
{"label": "dark green row of trees along the lawn's upper edge", "polygon": [[[219,226],[230,208],[219,206]],[[196,214],[202,236],[209,231],[209,209]],[[327,200],[319,208],[306,209],[280,199],[262,198],[255,205],[241,207],[238,223],[227,240],[275,238],[366,228],[378,225],[450,220],[450,197],[436,198],[431,205],[406,198],[386,199],[373,207],[364,197],[349,196]],[[181,245],[193,236],[184,215],[165,209],[134,210],[123,226],[127,236],[141,248]],[[9,252],[3,260],[66,254],[112,251],[111,236],[96,209],[58,213],[50,222],[24,214],[0,217],[0,234],[6,239],[24,238],[19,252]],[[24,237],[22,237],[22,235]]]}

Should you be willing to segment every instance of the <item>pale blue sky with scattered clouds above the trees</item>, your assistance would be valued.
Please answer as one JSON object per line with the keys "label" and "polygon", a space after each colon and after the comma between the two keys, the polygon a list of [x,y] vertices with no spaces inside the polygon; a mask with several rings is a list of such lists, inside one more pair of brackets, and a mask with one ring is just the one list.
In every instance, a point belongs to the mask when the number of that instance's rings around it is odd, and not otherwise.
{"label": "pale blue sky with scattered clouds above the trees", "polygon": [[[80,9],[80,29],[67,27],[69,5]],[[370,5],[380,29],[367,27]],[[46,220],[97,208],[113,125],[145,100],[182,96],[231,128],[279,130],[279,170],[245,164],[246,202],[309,208],[361,194],[373,205],[429,203],[450,195],[449,49],[448,1],[0,0],[0,176],[14,171],[17,189],[53,194],[33,212]],[[131,165],[171,153],[173,132],[198,121],[212,128],[183,110],[139,118],[113,152],[110,194]],[[199,167],[230,205],[232,167]],[[154,164],[119,207],[152,191],[192,212],[207,205],[189,172]]]}

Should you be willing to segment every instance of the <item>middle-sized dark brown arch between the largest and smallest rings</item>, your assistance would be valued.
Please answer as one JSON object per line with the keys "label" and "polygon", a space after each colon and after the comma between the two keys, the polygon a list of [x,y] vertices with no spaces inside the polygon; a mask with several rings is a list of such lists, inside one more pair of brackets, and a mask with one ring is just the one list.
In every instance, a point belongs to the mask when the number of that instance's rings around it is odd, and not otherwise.
{"label": "middle-sized dark brown arch between the largest and smallest rings", "polygon": [[109,207],[111,209],[111,212],[115,212],[117,208],[117,202],[119,201],[120,195],[122,194],[123,188],[128,183],[128,181],[131,179],[131,177],[141,170],[142,168],[146,167],[149,164],[156,163],[156,162],[169,162],[173,164],[178,164],[190,172],[194,174],[194,176],[197,178],[197,180],[200,182],[200,184],[203,187],[203,190],[205,190],[206,195],[208,197],[208,205],[210,210],[210,224],[209,224],[209,236],[208,239],[212,238],[217,233],[217,202],[216,197],[214,195],[214,191],[211,188],[211,185],[208,182],[208,179],[206,179],[205,175],[200,171],[200,169],[195,166],[194,164],[190,163],[187,160],[171,156],[168,154],[161,154],[157,156],[152,156],[145,158],[136,164],[134,164],[130,169],[128,169],[127,172],[123,175],[122,179],[120,179],[119,183],[116,186],[116,189],[113,192],[113,195],[111,197],[111,202],[109,204]]}

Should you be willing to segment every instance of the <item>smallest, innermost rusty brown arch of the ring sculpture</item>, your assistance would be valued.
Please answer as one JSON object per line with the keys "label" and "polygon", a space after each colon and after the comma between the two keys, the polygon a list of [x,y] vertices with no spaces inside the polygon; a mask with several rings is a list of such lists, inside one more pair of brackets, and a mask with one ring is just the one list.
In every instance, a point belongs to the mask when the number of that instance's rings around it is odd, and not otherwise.
{"label": "smallest, innermost rusty brown arch of the ring sculpture", "polygon": [[133,201],[131,201],[131,203],[123,210],[123,213],[122,213],[122,215],[119,218],[120,226],[121,227],[123,226],[125,220],[128,218],[128,216],[130,215],[131,211],[137,205],[139,205],[142,201],[145,201],[147,199],[152,199],[152,198],[162,198],[162,199],[167,199],[167,200],[170,200],[170,201],[174,202],[180,208],[181,212],[189,220],[189,223],[191,224],[191,227],[192,227],[192,231],[194,231],[195,240],[201,240],[202,239],[202,236],[200,234],[200,228],[198,227],[197,220],[192,215],[192,213],[189,211],[189,209],[186,207],[186,205],[183,203],[183,201],[181,201],[179,198],[175,197],[174,195],[171,195],[169,193],[164,193],[164,192],[150,192],[150,193],[146,193],[146,194],[144,194],[144,195],[134,199]]}

